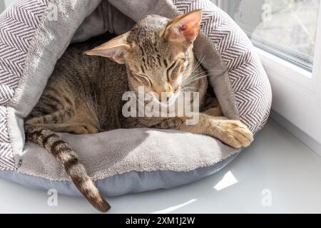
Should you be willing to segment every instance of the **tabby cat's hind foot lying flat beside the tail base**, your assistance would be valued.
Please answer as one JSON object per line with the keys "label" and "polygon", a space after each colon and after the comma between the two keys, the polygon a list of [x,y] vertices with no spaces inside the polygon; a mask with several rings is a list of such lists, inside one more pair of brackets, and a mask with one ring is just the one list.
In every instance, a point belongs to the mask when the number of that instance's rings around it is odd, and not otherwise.
{"label": "tabby cat's hind foot lying flat beside the tail base", "polygon": [[40,123],[33,124],[42,128],[52,130],[56,133],[71,133],[71,134],[93,134],[99,130],[91,123]]}

